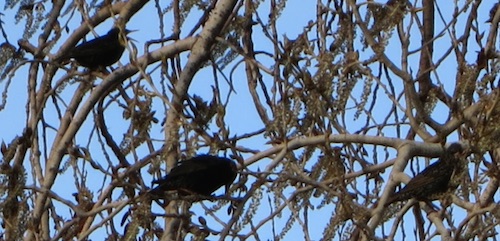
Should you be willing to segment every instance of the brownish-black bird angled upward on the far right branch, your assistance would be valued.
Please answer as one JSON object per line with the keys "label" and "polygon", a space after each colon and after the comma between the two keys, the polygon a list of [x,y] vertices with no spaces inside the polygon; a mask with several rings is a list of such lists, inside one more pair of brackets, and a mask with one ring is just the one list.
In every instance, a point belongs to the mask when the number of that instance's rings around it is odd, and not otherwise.
{"label": "brownish-black bird angled upward on the far right branch", "polygon": [[389,197],[385,206],[410,198],[433,201],[455,190],[465,171],[462,153],[463,148],[459,143],[451,144],[437,162],[418,173],[404,188]]}

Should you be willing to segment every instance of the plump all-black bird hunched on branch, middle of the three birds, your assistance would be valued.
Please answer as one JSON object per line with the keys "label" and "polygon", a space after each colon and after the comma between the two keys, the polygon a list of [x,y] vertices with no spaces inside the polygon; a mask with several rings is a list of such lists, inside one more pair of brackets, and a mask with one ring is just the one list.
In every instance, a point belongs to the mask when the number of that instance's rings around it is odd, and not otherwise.
{"label": "plump all-black bird hunched on branch, middle of the three birds", "polygon": [[223,185],[227,192],[236,174],[233,161],[224,157],[200,155],[181,161],[166,177],[153,181],[158,186],[149,193],[154,199],[164,199],[165,192],[172,190],[176,190],[180,196],[210,196]]}

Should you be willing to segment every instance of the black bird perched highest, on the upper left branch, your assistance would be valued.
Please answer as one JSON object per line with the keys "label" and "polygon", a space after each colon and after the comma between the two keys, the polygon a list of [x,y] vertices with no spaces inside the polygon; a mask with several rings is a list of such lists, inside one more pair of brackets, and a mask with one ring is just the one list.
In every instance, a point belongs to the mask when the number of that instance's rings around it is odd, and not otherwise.
{"label": "black bird perched highest, on the upper left branch", "polygon": [[78,64],[89,69],[107,67],[116,63],[123,54],[126,45],[126,34],[129,30],[120,33],[114,27],[106,35],[81,43],[72,49],[68,58],[74,58]]}

